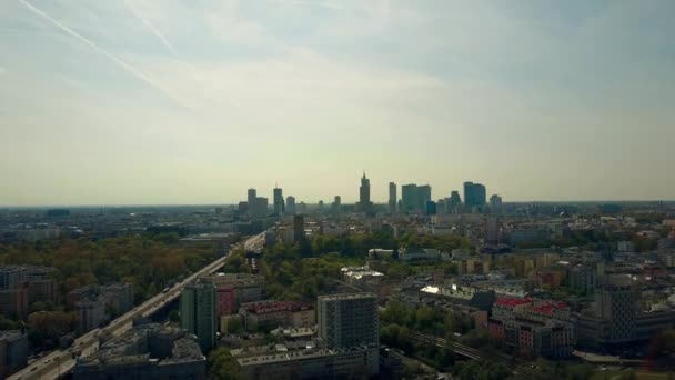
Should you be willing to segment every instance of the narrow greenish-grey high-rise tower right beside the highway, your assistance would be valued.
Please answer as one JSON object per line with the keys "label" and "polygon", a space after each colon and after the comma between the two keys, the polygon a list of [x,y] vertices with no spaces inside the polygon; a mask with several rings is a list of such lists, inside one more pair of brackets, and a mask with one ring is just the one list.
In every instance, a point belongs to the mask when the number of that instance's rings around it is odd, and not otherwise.
{"label": "narrow greenish-grey high-rise tower right beside the highway", "polygon": [[203,279],[181,293],[181,328],[197,336],[204,353],[215,347],[215,287]]}

